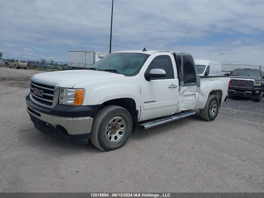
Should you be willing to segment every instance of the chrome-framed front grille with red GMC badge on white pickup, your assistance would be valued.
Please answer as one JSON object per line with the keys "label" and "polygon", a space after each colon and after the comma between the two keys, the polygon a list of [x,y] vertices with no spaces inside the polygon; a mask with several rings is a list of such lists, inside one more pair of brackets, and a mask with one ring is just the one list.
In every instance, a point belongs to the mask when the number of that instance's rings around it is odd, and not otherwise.
{"label": "chrome-framed front grille with red GMC badge on white pickup", "polygon": [[57,87],[31,81],[30,95],[33,102],[48,108],[52,108],[56,99]]}

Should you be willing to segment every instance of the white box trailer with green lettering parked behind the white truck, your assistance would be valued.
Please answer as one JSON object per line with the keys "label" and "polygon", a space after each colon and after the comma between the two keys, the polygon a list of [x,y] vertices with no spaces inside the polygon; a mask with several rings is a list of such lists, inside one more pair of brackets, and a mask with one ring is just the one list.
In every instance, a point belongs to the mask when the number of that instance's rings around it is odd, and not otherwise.
{"label": "white box trailer with green lettering parked behind the white truck", "polygon": [[91,67],[98,60],[104,58],[107,54],[95,51],[69,51],[68,68],[86,69]]}

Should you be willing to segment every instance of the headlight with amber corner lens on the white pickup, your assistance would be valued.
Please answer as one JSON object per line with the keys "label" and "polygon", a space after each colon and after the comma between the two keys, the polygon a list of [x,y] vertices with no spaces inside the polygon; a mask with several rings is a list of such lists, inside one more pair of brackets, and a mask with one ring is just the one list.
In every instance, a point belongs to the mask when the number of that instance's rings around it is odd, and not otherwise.
{"label": "headlight with amber corner lens on the white pickup", "polygon": [[59,104],[82,105],[84,89],[60,88]]}

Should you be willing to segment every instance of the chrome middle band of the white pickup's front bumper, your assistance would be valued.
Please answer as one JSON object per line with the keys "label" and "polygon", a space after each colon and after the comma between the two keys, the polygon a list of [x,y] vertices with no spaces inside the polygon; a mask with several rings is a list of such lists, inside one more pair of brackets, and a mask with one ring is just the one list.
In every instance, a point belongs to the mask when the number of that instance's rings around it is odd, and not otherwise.
{"label": "chrome middle band of the white pickup's front bumper", "polygon": [[[30,108],[26,105],[27,113],[30,115],[51,124],[54,128],[57,125],[65,128],[70,135],[87,134],[91,132],[92,121],[91,117],[80,117],[80,118],[65,118],[57,117],[53,115],[43,114],[35,109]],[[29,110],[30,109],[30,110]]]}

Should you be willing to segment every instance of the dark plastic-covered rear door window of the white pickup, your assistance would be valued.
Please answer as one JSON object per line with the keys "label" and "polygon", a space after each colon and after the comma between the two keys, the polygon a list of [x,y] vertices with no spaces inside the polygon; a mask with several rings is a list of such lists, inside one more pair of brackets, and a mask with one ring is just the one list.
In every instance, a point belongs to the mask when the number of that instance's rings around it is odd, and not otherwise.
{"label": "dark plastic-covered rear door window of the white pickup", "polygon": [[183,55],[184,84],[196,83],[195,63],[191,55]]}

